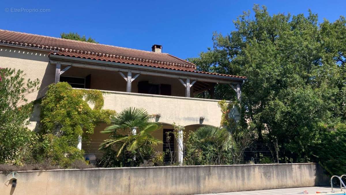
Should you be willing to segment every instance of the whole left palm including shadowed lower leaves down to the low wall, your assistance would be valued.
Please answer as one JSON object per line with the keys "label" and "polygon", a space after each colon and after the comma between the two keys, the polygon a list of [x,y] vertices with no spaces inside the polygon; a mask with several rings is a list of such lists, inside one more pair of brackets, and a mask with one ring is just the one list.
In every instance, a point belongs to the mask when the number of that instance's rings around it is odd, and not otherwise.
{"label": "whole left palm including shadowed lower leaves down to the low wall", "polygon": [[[152,147],[162,143],[161,140],[152,136],[152,133],[161,126],[157,122],[152,122],[151,116],[143,108],[126,108],[116,116],[111,117],[111,124],[101,131],[101,133],[110,135],[100,145],[100,150],[106,151],[105,155],[107,156],[114,153],[109,150],[117,151],[115,158],[122,155],[122,166],[125,166],[127,162],[131,162],[132,166],[140,162],[143,163],[144,160],[148,160]],[[126,158],[129,155],[132,156],[133,160]],[[125,159],[127,159],[126,162]],[[114,164],[116,161],[117,159],[108,158],[106,162],[107,164]]]}

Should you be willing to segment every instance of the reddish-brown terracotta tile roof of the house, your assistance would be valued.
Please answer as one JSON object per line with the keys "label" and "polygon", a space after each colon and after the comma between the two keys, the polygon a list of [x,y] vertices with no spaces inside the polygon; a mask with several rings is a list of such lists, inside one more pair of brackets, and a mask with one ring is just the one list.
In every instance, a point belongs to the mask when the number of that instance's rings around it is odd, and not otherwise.
{"label": "reddish-brown terracotta tile roof of the house", "polygon": [[51,54],[59,56],[102,60],[246,79],[246,77],[242,76],[197,71],[196,66],[193,63],[177,58],[168,53],[157,53],[152,51],[122,48],[112,45],[61,39],[1,29],[0,42],[5,44],[46,49],[51,51]]}

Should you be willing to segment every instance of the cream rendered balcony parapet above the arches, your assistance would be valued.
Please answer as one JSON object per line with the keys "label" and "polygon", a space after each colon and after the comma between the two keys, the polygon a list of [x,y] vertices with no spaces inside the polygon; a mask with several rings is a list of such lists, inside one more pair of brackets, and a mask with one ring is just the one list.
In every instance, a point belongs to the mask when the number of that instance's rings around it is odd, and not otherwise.
{"label": "cream rendered balcony parapet above the arches", "polygon": [[[149,114],[160,114],[157,122],[182,126],[203,124],[220,126],[218,100],[103,91],[104,109],[117,112],[128,107],[141,107]],[[200,121],[200,117],[204,117]]]}

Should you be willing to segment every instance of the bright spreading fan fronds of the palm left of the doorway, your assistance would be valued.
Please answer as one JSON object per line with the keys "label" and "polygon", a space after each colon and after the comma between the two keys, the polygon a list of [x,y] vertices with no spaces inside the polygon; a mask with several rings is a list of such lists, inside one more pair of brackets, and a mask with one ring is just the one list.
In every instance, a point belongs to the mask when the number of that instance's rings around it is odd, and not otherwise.
{"label": "bright spreading fan fronds of the palm left of the doorway", "polygon": [[112,116],[111,124],[101,131],[110,135],[100,145],[99,150],[107,150],[111,147],[117,151],[116,157],[119,157],[124,150],[139,152],[138,149],[143,146],[156,146],[162,143],[160,139],[152,135],[154,131],[161,128],[161,125],[152,122],[148,112],[143,108],[126,108],[116,116]]}

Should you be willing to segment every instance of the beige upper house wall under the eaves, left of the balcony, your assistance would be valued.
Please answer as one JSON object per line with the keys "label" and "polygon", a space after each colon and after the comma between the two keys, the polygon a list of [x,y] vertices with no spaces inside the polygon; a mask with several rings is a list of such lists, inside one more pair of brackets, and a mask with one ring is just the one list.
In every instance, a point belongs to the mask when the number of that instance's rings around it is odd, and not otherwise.
{"label": "beige upper house wall under the eaves, left of the balcony", "polygon": [[27,95],[29,102],[44,96],[47,86],[54,83],[55,66],[49,64],[48,52],[0,46],[0,62],[0,68],[23,70],[26,80],[40,80],[40,89]]}

